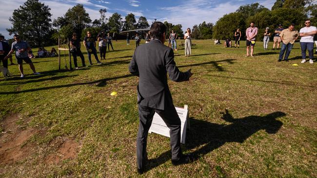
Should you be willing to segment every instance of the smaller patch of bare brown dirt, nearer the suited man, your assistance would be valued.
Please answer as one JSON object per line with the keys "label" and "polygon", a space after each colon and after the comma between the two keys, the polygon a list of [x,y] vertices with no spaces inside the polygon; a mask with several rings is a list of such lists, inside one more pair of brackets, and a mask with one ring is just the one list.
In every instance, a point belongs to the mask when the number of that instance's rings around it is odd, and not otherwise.
{"label": "smaller patch of bare brown dirt, nearer the suited man", "polygon": [[52,146],[55,145],[58,146],[58,149],[46,156],[45,163],[57,164],[62,160],[74,159],[78,155],[79,143],[72,139],[56,140],[52,143]]}

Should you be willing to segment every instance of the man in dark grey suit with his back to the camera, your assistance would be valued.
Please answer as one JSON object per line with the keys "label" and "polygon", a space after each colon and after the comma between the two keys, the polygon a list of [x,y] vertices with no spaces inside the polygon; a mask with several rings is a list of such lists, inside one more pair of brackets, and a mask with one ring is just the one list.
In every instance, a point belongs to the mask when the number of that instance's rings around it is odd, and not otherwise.
{"label": "man in dark grey suit with his back to the camera", "polygon": [[166,26],[163,23],[153,23],[149,32],[151,41],[135,50],[129,65],[129,71],[139,76],[137,166],[140,174],[144,172],[147,160],[147,135],[155,112],[170,128],[173,165],[191,161],[191,156],[183,155],[180,149],[180,119],[173,105],[166,74],[168,72],[171,80],[182,82],[188,81],[192,73],[191,70],[181,72],[176,67],[173,49],[164,45],[165,32]]}

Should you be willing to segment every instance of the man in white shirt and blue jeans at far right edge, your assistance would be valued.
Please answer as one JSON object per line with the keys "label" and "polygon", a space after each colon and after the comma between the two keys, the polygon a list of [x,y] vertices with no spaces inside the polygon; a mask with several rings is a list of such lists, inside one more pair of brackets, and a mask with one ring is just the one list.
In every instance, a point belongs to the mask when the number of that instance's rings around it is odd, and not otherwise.
{"label": "man in white shirt and blue jeans at far right edge", "polygon": [[300,38],[300,48],[301,48],[301,63],[306,62],[306,49],[309,54],[309,63],[313,64],[314,57],[314,36],[317,33],[317,28],[311,26],[311,21],[309,19],[305,20],[305,27],[301,28],[299,31]]}

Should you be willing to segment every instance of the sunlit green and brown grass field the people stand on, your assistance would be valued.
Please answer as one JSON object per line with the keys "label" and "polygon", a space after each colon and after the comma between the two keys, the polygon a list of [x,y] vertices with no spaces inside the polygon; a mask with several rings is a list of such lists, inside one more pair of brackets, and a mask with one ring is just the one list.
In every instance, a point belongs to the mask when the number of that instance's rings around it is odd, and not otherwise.
{"label": "sunlit green and brown grass field the people stand on", "polygon": [[178,47],[175,61],[194,75],[169,86],[174,105],[189,107],[182,149],[196,161],[173,166],[169,138],[153,133],[147,172],[137,174],[138,78],[128,71],[135,45],[118,41],[102,65],[93,57],[92,67],[58,71],[58,57],[40,58],[40,75],[26,64],[24,79],[16,65],[12,78],[1,75],[0,177],[317,177],[317,63],[300,63],[298,43],[279,63],[279,51],[262,42],[255,57],[244,56],[245,42],[193,43],[192,56]]}

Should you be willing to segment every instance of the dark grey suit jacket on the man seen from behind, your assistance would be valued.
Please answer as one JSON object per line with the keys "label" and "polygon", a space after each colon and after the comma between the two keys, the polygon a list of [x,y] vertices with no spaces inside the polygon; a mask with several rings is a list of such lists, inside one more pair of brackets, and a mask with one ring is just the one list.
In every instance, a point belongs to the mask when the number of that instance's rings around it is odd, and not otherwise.
{"label": "dark grey suit jacket on the man seen from behind", "polygon": [[187,81],[190,77],[188,71],[181,72],[176,67],[173,49],[157,39],[152,39],[135,50],[129,71],[139,76],[138,104],[160,110],[173,104],[167,85],[167,72],[169,78],[175,82]]}

